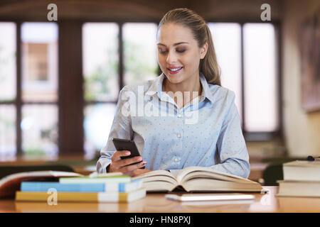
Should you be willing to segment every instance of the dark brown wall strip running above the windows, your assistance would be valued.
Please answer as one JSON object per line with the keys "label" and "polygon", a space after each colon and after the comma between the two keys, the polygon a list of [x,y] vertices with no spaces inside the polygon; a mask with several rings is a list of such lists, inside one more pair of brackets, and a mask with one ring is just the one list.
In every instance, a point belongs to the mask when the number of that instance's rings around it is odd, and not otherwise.
{"label": "dark brown wall strip running above the windows", "polygon": [[272,7],[272,18],[279,19],[282,1],[277,0],[3,0],[0,18],[46,20],[50,3],[58,6],[58,21],[81,20],[153,20],[159,21],[171,9],[187,7],[206,19],[260,19],[260,6]]}

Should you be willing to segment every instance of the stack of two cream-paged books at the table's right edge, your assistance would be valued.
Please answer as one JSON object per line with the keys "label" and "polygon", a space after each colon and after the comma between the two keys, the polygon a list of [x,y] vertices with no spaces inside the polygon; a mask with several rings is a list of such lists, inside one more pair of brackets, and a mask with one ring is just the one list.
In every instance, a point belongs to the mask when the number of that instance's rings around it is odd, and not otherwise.
{"label": "stack of two cream-paged books at the table's right edge", "polygon": [[294,161],[283,165],[277,196],[320,197],[320,161]]}

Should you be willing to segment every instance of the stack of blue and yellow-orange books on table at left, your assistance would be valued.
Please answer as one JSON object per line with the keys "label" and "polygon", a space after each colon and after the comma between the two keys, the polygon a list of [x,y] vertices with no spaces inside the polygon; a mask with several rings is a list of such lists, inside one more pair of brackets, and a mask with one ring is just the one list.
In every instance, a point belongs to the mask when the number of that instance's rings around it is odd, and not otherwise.
{"label": "stack of blue and yellow-orange books on table at left", "polygon": [[127,175],[58,179],[59,182],[21,182],[16,201],[130,202],[146,196],[142,180]]}

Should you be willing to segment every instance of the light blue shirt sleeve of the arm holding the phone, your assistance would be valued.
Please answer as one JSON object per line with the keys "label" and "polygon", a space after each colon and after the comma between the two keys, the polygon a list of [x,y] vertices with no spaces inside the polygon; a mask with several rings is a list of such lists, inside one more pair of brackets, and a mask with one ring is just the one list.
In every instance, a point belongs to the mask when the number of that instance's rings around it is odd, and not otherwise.
{"label": "light blue shirt sleeve of the arm holding the phone", "polygon": [[129,115],[129,97],[130,91],[129,89],[127,89],[127,87],[124,87],[119,92],[119,99],[117,101],[114,119],[107,140],[107,145],[105,145],[105,147],[100,150],[100,158],[97,161],[96,166],[98,173],[107,172],[107,166],[110,165],[111,157],[116,151],[112,143],[112,138],[122,138],[127,140],[132,139],[133,131],[131,125],[131,117]]}

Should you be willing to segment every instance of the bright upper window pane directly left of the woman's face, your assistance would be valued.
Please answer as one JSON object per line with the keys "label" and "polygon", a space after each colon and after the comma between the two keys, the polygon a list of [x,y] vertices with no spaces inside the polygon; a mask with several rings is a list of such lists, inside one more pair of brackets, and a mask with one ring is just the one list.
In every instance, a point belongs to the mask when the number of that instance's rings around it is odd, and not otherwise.
{"label": "bright upper window pane directly left of the woman's face", "polygon": [[124,85],[141,84],[158,75],[156,24],[124,23]]}

